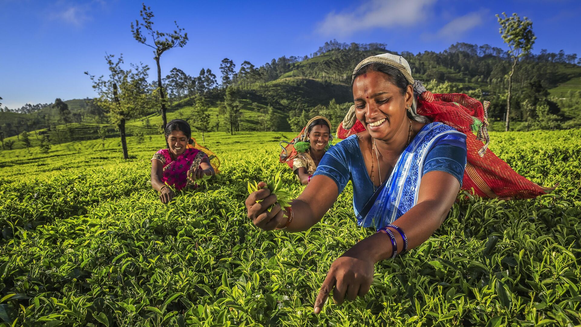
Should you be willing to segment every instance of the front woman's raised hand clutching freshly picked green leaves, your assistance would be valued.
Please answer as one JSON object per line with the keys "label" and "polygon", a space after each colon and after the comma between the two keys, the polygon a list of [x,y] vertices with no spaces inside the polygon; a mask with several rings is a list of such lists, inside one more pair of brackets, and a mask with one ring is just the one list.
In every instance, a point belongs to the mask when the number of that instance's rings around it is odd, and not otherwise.
{"label": "front woman's raised hand clutching freshly picked green leaves", "polygon": [[[245,204],[246,209],[248,209],[248,218],[252,220],[256,227],[264,230],[273,230],[283,226],[288,221],[288,217],[284,215],[285,212],[282,210],[281,205],[276,203],[277,196],[270,194],[266,183],[260,182],[258,186],[261,189],[250,193],[248,198],[246,198]],[[268,208],[272,204],[275,205],[269,212]]]}

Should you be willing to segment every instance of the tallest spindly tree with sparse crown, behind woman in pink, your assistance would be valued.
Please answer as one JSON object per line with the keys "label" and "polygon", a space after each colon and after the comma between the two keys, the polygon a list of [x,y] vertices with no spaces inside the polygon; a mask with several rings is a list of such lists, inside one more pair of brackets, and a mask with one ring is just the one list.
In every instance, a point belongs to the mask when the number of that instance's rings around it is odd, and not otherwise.
{"label": "tallest spindly tree with sparse crown, behind woman in pink", "polygon": [[[135,40],[137,40],[139,43],[145,44],[153,49],[153,59],[155,59],[155,63],[157,65],[157,88],[162,109],[163,129],[165,129],[167,125],[166,94],[162,85],[162,68],[159,65],[159,58],[164,52],[171,48],[183,48],[184,45],[188,42],[188,33],[184,33],[182,35],[182,31],[184,31],[184,29],[181,29],[180,26],[178,26],[178,23],[175,21],[175,28],[177,30],[174,30],[173,33],[162,33],[160,31],[153,30],[153,12],[151,11],[150,7],[145,6],[145,3],[142,5],[143,8],[139,11],[139,16],[141,16],[143,22],[139,22],[139,20],[136,19],[135,25],[131,23],[131,33],[133,34],[133,38],[135,38]],[[141,28],[146,30],[146,34],[152,38],[153,43],[147,42],[145,35],[141,33]]]}

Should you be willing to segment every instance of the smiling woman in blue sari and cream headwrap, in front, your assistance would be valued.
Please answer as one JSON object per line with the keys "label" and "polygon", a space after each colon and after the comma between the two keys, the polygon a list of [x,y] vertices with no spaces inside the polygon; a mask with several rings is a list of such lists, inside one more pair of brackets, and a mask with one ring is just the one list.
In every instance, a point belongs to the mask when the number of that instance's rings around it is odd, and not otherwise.
{"label": "smiling woman in blue sari and cream headwrap, in front", "polygon": [[365,130],[327,151],[290,207],[277,204],[269,212],[277,199],[268,189],[246,200],[248,216],[257,227],[303,231],[320,221],[352,181],[358,225],[378,233],[333,262],[315,313],[333,289],[336,303],[364,296],[375,263],[422,244],[442,225],[456,200],[466,164],[465,135],[418,116],[414,84],[419,87],[401,56],[384,54],[359,63],[352,79],[352,113]]}

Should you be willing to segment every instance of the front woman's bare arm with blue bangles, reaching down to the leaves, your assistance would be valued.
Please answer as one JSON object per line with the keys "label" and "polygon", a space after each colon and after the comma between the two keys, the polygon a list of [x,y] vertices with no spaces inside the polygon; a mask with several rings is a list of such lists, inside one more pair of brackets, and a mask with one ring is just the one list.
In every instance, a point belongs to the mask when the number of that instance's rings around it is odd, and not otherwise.
{"label": "front woman's bare arm with blue bangles, reaching down to the leaves", "polygon": [[[393,223],[406,233],[408,249],[424,243],[442,225],[458,191],[460,182],[447,172],[432,171],[422,177],[418,203]],[[403,239],[399,233],[393,234],[400,253]],[[391,254],[392,244],[385,233],[375,233],[347,250],[331,265],[315,300],[315,314],[322,310],[333,289],[333,300],[338,304],[343,303],[345,296],[347,300],[355,300],[357,296],[367,294],[373,282],[375,263]]]}

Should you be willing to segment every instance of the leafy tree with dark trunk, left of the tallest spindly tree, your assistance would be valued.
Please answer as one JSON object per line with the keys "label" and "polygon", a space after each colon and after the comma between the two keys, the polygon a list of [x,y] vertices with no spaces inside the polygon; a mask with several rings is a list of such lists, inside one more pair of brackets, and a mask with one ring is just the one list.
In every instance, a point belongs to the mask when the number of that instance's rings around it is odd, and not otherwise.
{"label": "leafy tree with dark trunk, left of the tallest spindly tree", "polygon": [[121,137],[123,158],[129,159],[127,141],[125,140],[125,121],[141,116],[153,104],[151,93],[148,92],[147,65],[131,65],[133,70],[121,67],[123,55],[113,62],[114,55],[106,55],[109,66],[109,76],[95,76],[85,72],[93,81],[93,88],[99,95],[94,99],[96,105],[107,111],[107,115],[116,123]]}

